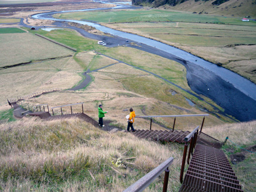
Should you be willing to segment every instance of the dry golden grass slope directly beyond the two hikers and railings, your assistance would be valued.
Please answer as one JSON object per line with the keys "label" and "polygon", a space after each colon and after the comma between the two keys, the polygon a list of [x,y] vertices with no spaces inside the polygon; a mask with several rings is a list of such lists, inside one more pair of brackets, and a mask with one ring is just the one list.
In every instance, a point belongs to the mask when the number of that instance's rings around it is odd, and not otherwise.
{"label": "dry golden grass slope directly beyond the two hikers and railings", "polygon": [[[129,75],[126,74],[127,71],[130,72]],[[162,80],[125,64],[117,63],[91,74],[94,80],[86,90],[45,94],[27,102],[31,108],[38,104],[49,104],[49,107],[55,107],[85,102],[84,112],[95,120],[98,119],[98,105],[103,104],[104,110],[109,111],[105,119],[112,120],[121,128],[126,127],[125,116],[129,113],[130,107],[134,108],[137,116],[202,114],[198,109],[191,107],[182,94],[172,96],[170,88]],[[81,113],[81,106],[73,107],[72,110],[73,113]],[[54,110],[54,113],[60,114],[60,109]],[[70,107],[64,107],[63,113],[70,113]],[[164,130],[158,123],[172,128],[173,118],[155,120],[157,123],[153,123],[153,129]],[[176,128],[195,127],[201,125],[201,122],[202,117],[177,119]],[[222,120],[209,116],[205,125],[219,125],[221,123],[223,123]],[[136,129],[145,127],[149,129],[149,120],[138,118],[134,126]]]}

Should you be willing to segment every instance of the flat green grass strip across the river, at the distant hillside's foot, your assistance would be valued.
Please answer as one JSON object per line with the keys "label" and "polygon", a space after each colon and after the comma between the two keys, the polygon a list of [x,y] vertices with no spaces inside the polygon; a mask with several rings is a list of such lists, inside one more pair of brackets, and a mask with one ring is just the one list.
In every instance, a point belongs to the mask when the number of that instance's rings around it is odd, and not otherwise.
{"label": "flat green grass strip across the river, at the distant hillside's foot", "polygon": [[83,13],[56,14],[60,19],[88,19],[96,22],[192,22],[226,23],[229,25],[256,26],[256,22],[242,22],[239,18],[199,15],[166,10],[90,11]]}

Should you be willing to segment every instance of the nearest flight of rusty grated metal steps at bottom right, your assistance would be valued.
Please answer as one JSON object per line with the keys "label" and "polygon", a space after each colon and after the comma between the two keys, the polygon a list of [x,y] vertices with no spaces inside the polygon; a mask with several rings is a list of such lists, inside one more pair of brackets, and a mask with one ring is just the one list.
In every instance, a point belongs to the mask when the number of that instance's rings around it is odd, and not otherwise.
{"label": "nearest flight of rusty grated metal steps at bottom right", "polygon": [[197,144],[180,192],[242,192],[222,150]]}

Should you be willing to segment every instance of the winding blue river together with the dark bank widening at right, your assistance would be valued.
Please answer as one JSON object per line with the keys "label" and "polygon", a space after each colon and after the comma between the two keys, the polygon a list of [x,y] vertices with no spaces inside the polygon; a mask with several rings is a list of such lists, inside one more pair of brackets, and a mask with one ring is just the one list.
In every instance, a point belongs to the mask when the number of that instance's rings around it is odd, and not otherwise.
{"label": "winding blue river together with the dark bank widening at right", "polygon": [[[131,8],[129,5],[117,5],[112,9],[117,8]],[[106,10],[110,8],[95,8],[86,10],[74,11],[92,11],[92,10]],[[55,19],[53,14],[67,13],[72,11],[58,11],[50,13],[34,14],[34,19],[49,19],[60,22],[74,22],[83,25],[93,26],[96,29],[112,34],[113,36],[122,37],[124,39],[137,42],[138,44],[146,46],[144,51],[148,51],[162,57],[166,57],[183,64],[187,69],[187,81],[198,94],[202,94],[212,99],[216,104],[225,109],[225,113],[236,117],[240,121],[249,121],[256,119],[256,85],[231,72],[228,69],[219,67],[216,64],[196,57],[178,48],[157,42],[152,39],[137,36],[135,34],[117,31],[98,23],[69,20],[69,19]],[[143,47],[143,46],[142,46]]]}

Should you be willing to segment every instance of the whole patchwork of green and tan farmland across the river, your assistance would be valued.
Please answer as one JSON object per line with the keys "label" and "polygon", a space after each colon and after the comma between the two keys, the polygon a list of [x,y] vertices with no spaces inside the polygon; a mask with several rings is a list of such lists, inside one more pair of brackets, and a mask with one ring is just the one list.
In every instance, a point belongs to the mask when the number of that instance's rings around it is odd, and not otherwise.
{"label": "whole patchwork of green and tan farmland across the river", "polygon": [[[256,22],[166,10],[93,11],[57,14],[88,19],[183,49],[256,83]],[[243,67],[241,67],[241,64]]]}

